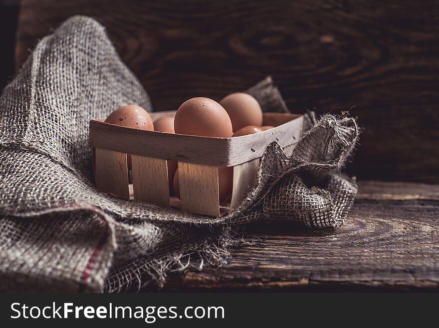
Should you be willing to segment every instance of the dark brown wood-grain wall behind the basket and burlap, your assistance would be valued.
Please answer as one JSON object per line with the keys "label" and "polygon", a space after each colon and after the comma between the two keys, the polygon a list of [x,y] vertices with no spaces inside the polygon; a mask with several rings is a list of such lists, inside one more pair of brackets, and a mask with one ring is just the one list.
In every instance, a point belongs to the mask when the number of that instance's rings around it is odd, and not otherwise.
{"label": "dark brown wood-grain wall behind the basket and burlap", "polygon": [[436,1],[22,0],[16,63],[73,14],[97,18],[156,110],[272,75],[289,109],[349,110],[361,179],[439,183]]}

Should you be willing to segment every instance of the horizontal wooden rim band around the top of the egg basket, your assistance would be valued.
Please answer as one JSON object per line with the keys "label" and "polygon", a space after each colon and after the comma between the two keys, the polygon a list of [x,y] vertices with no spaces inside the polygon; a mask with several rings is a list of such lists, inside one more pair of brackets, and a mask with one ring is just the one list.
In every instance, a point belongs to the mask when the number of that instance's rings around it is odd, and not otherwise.
{"label": "horizontal wooden rim band around the top of the egg basket", "polygon": [[[154,113],[151,115],[154,117]],[[185,161],[210,166],[234,166],[261,157],[275,140],[284,145],[295,142],[306,128],[303,116],[270,113],[283,124],[267,131],[234,138],[198,137],[158,131],[131,129],[90,121],[89,144],[92,147],[160,159]],[[285,122],[286,121],[286,122]]]}

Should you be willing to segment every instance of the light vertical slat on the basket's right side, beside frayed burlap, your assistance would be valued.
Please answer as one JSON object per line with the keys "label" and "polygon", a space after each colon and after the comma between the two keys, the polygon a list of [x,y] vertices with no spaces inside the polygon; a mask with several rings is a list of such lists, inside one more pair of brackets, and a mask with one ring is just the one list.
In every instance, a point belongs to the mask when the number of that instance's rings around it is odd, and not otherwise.
{"label": "light vertical slat on the basket's right side, beside frayed burlap", "polygon": [[260,159],[256,158],[233,167],[233,191],[231,194],[230,209],[238,207],[254,186],[259,162]]}

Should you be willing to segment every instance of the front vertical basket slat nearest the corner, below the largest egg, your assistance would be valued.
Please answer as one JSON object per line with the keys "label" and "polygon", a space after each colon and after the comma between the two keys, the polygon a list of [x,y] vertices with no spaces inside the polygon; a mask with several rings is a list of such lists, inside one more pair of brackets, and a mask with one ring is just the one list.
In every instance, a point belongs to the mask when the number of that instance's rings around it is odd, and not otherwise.
{"label": "front vertical basket slat nearest the corner, below the largest egg", "polygon": [[182,210],[219,216],[218,168],[179,162]]}

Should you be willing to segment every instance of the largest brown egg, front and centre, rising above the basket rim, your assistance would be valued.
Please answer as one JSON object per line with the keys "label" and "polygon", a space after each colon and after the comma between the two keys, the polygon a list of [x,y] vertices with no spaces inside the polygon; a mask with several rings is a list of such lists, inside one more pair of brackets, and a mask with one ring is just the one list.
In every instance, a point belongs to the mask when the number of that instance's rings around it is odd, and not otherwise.
{"label": "largest brown egg, front and centre, rising above the basket rim", "polygon": [[233,134],[230,117],[215,100],[197,97],[185,101],[177,110],[175,133],[229,138]]}

